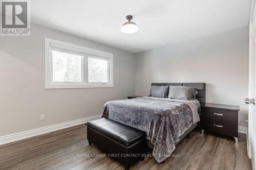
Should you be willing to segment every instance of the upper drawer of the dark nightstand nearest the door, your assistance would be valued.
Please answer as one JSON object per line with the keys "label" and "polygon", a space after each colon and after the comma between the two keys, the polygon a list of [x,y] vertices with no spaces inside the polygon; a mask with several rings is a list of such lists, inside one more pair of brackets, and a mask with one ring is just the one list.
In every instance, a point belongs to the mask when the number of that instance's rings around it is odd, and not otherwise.
{"label": "upper drawer of the dark nightstand nearest the door", "polygon": [[238,111],[202,107],[201,113],[202,118],[238,123]]}

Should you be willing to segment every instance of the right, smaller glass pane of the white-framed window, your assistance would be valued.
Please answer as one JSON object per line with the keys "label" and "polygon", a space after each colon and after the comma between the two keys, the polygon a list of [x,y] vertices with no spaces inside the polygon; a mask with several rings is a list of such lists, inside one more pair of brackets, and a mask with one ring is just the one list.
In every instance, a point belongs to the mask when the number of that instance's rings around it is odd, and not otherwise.
{"label": "right, smaller glass pane of the white-framed window", "polygon": [[88,82],[108,83],[109,61],[95,58],[88,58]]}

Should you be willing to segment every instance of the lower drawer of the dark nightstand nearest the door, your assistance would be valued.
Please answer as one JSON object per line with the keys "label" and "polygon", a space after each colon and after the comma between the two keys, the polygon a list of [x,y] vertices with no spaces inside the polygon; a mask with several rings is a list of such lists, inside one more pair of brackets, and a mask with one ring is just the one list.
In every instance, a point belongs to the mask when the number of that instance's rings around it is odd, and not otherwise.
{"label": "lower drawer of the dark nightstand nearest the door", "polygon": [[238,137],[238,124],[217,119],[203,118],[202,129],[227,136]]}

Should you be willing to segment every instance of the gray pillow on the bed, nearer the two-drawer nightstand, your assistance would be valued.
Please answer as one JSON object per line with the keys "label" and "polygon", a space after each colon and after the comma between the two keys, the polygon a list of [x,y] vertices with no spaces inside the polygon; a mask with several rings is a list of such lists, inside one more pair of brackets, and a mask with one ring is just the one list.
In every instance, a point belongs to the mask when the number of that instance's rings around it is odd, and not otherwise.
{"label": "gray pillow on the bed, nearer the two-drawer nightstand", "polygon": [[186,86],[169,86],[168,98],[180,100],[195,100],[197,90]]}

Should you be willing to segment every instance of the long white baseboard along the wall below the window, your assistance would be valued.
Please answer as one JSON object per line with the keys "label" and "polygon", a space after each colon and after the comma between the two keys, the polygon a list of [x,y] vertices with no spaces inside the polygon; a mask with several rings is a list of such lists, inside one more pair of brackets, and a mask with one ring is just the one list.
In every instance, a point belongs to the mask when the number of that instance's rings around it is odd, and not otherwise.
{"label": "long white baseboard along the wall below the window", "polygon": [[51,125],[51,126],[47,126],[47,127],[38,128],[38,129],[32,129],[29,131],[19,132],[19,133],[15,133],[15,134],[11,134],[11,135],[0,136],[0,145],[14,142],[17,140],[26,139],[26,138],[37,136],[37,135],[41,135],[41,134],[45,134],[45,133],[49,133],[49,132],[53,132],[53,131],[57,131],[60,129],[65,129],[65,128],[85,124],[88,121],[97,119],[97,118],[100,118],[100,115],[81,118],[81,119],[73,120],[70,122]]}

